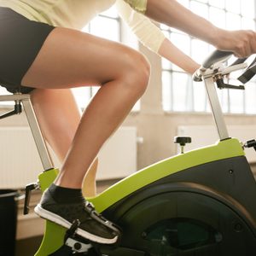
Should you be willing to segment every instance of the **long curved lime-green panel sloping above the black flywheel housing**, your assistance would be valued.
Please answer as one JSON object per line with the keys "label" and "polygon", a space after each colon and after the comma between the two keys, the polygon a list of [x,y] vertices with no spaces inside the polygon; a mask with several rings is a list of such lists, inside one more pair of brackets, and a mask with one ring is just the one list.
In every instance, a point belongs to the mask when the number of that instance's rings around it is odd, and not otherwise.
{"label": "long curved lime-green panel sloping above the black flywheel housing", "polygon": [[126,195],[130,195],[137,189],[172,173],[240,155],[244,155],[241,143],[237,139],[230,138],[212,146],[191,150],[185,154],[177,154],[166,160],[161,160],[129,177],[125,177],[119,183],[115,183],[103,191],[102,194],[88,198],[88,200],[93,203],[98,212],[103,212]]}

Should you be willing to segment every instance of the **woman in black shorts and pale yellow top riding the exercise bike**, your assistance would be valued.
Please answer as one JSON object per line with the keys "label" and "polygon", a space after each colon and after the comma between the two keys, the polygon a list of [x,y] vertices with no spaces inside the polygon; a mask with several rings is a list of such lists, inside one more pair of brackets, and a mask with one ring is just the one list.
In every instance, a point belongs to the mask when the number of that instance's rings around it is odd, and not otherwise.
{"label": "woman in black shorts and pale yellow top riding the exercise bike", "polygon": [[[84,201],[82,181],[102,144],[143,95],[150,73],[137,51],[79,32],[115,2],[143,44],[189,73],[198,64],[143,15],[237,56],[256,51],[254,32],[224,31],[171,0],[0,0],[1,84],[31,93],[44,136],[63,160],[35,211],[65,227],[79,219],[78,234],[100,243],[117,241],[119,230]],[[80,118],[67,89],[90,84],[101,89]]]}

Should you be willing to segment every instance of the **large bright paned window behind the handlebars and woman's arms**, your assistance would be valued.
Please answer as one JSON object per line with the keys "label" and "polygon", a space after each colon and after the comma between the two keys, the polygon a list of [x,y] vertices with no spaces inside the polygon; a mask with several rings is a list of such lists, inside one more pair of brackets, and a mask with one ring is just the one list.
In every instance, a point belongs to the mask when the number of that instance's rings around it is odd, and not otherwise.
{"label": "large bright paned window behind the handlebars and woman's arms", "polygon": [[[210,20],[215,26],[229,30],[255,29],[255,1],[247,0],[180,0],[195,14]],[[195,61],[201,63],[212,46],[189,37],[183,32],[161,26],[166,36]],[[230,84],[234,83],[230,79]],[[173,112],[208,112],[207,95],[202,83],[194,83],[179,67],[162,60],[163,109]],[[256,113],[256,80],[246,84],[246,90],[218,90],[224,113]]]}

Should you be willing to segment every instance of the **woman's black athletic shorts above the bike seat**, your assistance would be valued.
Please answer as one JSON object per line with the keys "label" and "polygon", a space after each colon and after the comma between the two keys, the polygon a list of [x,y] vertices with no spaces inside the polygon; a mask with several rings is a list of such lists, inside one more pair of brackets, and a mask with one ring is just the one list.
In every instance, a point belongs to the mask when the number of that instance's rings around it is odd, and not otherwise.
{"label": "woman's black athletic shorts above the bike seat", "polygon": [[32,21],[0,7],[0,85],[9,92],[29,93],[21,79],[55,26]]}

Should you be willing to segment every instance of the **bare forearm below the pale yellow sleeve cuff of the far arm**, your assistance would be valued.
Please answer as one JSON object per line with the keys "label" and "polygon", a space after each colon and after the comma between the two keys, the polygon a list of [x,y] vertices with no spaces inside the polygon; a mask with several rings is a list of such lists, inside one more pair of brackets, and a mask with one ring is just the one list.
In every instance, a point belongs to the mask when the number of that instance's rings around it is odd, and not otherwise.
{"label": "bare forearm below the pale yellow sleeve cuff of the far arm", "polygon": [[200,67],[198,63],[193,61],[188,55],[185,55],[168,39],[163,41],[158,53],[190,74],[195,73],[195,70]]}

